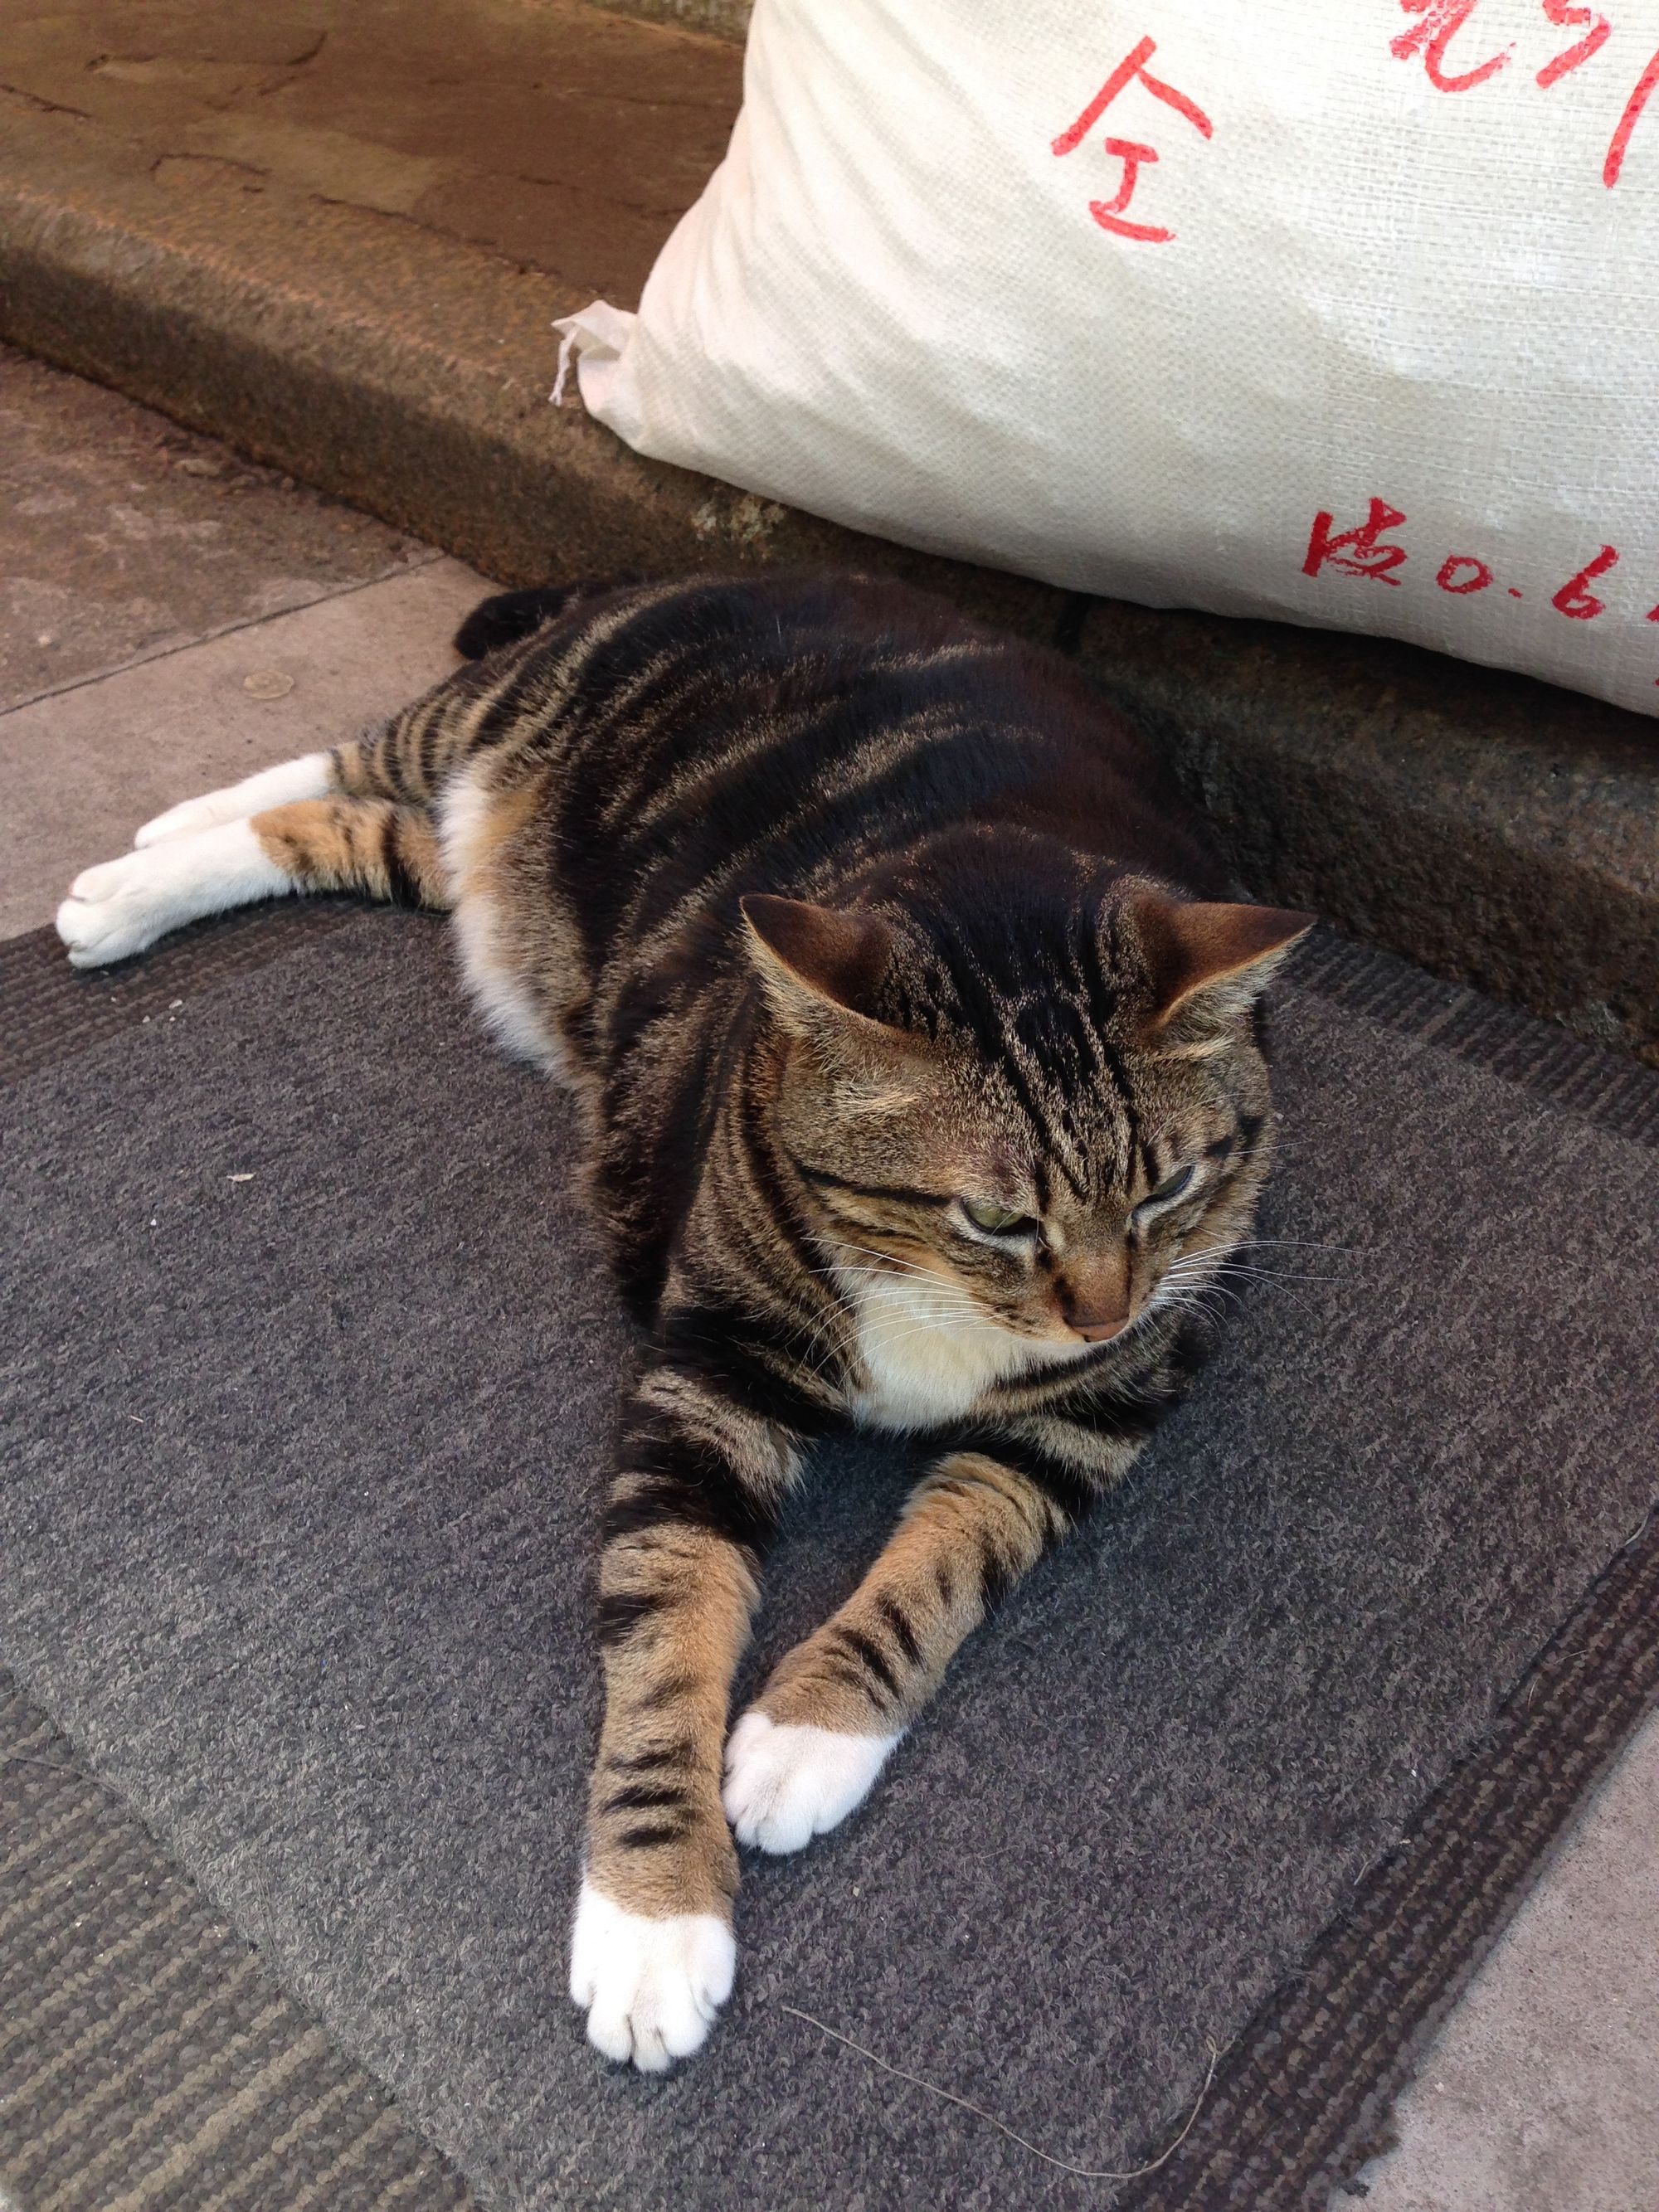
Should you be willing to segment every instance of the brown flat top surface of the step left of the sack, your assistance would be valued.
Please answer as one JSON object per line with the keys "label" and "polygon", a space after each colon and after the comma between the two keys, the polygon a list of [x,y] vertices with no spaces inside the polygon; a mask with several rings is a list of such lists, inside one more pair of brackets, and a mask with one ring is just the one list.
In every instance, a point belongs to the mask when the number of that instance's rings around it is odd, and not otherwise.
{"label": "brown flat top surface of the step left of the sack", "polygon": [[13,102],[115,135],[179,206],[303,192],[637,299],[721,159],[730,44],[580,0],[9,0]]}

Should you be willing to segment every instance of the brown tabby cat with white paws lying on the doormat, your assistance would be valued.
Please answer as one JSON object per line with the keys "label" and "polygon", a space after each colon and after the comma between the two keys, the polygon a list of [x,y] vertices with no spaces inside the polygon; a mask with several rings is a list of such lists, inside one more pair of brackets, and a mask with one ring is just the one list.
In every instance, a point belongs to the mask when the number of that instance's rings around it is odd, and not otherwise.
{"label": "brown tabby cat with white paws lying on the doormat", "polygon": [[[650,1349],[571,1995],[655,2073],[732,1986],[732,1838],[845,1820],[1186,1387],[1310,916],[1219,900],[1064,659],[889,582],[509,593],[458,648],[356,743],[148,823],[58,929],[95,967],[294,889],[451,909],[487,1022],[575,1086]],[[728,1736],[779,1509],[845,1422],[927,1431],[931,1471]]]}

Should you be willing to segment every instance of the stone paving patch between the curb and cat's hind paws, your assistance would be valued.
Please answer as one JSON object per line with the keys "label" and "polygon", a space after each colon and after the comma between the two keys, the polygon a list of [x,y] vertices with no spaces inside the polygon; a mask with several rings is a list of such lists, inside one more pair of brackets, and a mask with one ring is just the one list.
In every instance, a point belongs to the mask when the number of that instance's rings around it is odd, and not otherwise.
{"label": "stone paving patch between the curb and cat's hind paws", "polygon": [[0,349],[0,936],[177,799],[349,737],[453,668],[489,584]]}

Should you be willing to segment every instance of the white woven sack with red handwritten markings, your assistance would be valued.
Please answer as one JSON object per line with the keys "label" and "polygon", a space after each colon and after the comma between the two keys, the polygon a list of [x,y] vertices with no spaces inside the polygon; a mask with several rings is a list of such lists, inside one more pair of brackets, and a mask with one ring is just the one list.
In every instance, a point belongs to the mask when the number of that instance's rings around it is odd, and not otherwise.
{"label": "white woven sack with red handwritten markings", "polygon": [[562,327],[765,498],[1659,712],[1659,0],[759,0]]}

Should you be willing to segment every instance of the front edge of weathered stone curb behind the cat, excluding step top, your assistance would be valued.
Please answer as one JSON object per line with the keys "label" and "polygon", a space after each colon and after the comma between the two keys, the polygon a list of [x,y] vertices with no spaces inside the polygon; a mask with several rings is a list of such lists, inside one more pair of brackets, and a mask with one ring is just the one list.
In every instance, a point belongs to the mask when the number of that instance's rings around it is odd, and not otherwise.
{"label": "front edge of weathered stone curb behind the cat, excluding step top", "polygon": [[586,303],[555,276],[274,181],[181,190],[40,100],[0,115],[13,345],[504,582],[880,566],[1064,641],[1254,894],[1659,1064],[1652,721],[1387,641],[1066,597],[639,460],[549,407],[549,323]]}

